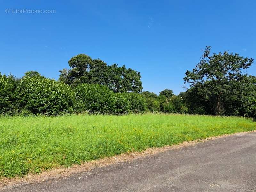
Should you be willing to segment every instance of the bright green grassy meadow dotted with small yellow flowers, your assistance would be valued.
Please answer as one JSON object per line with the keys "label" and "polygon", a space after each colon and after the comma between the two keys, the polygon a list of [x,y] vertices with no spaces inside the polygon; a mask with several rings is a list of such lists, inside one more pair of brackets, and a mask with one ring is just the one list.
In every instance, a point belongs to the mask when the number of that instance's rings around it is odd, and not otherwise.
{"label": "bright green grassy meadow dotted with small yellow flowers", "polygon": [[0,117],[0,177],[39,173],[128,151],[251,131],[240,117],[179,114]]}

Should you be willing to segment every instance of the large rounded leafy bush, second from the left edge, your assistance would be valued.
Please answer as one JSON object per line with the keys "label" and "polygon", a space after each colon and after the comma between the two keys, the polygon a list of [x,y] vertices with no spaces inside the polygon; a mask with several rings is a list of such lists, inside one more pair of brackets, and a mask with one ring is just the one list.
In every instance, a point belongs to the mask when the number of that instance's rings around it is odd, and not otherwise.
{"label": "large rounded leafy bush, second from the left edge", "polygon": [[22,113],[58,115],[72,112],[74,92],[54,79],[25,76],[15,91],[16,107]]}

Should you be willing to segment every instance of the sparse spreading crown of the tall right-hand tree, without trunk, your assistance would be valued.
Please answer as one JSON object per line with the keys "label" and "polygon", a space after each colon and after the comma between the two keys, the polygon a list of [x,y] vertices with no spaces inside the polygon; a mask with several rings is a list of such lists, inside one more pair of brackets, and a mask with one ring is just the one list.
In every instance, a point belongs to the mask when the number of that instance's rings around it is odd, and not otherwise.
{"label": "sparse spreading crown of the tall right-hand tree, without trunk", "polygon": [[198,82],[204,82],[211,80],[214,84],[218,84],[221,81],[238,79],[244,69],[249,68],[252,63],[252,58],[244,58],[239,54],[228,53],[213,53],[210,55],[210,46],[207,46],[200,62],[196,65],[192,71],[187,71],[184,77],[185,82],[190,83],[191,86],[195,86]]}

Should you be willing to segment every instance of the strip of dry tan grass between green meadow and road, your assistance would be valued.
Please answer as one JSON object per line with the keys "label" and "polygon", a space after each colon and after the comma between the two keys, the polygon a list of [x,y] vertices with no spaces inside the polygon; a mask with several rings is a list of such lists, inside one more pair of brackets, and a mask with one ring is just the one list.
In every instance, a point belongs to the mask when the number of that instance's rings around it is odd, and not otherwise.
{"label": "strip of dry tan grass between green meadow and road", "polygon": [[[256,132],[255,131],[251,131],[251,132]],[[235,133],[235,134],[231,134],[231,135],[242,135],[242,134],[246,134],[249,132],[240,132],[240,133]],[[59,177],[64,177],[64,176],[68,176],[71,175],[73,173],[77,173],[77,172],[85,172],[85,171],[90,171],[92,169],[98,168],[98,167],[104,167],[106,165],[110,165],[110,164],[116,164],[116,163],[120,163],[120,162],[124,162],[124,161],[131,161],[137,158],[141,158],[141,157],[145,157],[145,156],[150,156],[156,153],[161,153],[164,151],[168,151],[168,150],[172,150],[172,149],[178,149],[178,148],[183,148],[183,147],[188,147],[188,146],[192,146],[196,143],[199,142],[205,142],[208,140],[214,140],[214,139],[218,139],[218,138],[222,138],[222,137],[227,137],[230,135],[220,135],[217,137],[209,137],[206,139],[200,139],[200,140],[194,140],[194,141],[186,141],[177,145],[172,145],[172,146],[164,146],[161,148],[148,148],[145,151],[142,152],[130,152],[130,153],[124,153],[121,155],[116,155],[113,157],[107,157],[107,158],[103,158],[100,160],[94,160],[94,161],[90,161],[90,162],[85,162],[82,163],[81,165],[73,165],[70,168],[56,168],[56,169],[52,169],[50,171],[45,171],[42,172],[40,174],[28,174],[25,175],[24,177],[20,178],[20,177],[15,177],[15,178],[2,178],[0,179],[0,190],[1,189],[7,189],[7,188],[12,188],[14,186],[17,185],[25,185],[28,183],[34,183],[34,182],[40,182],[40,181],[44,181],[44,180],[49,180],[52,178],[59,178]]]}

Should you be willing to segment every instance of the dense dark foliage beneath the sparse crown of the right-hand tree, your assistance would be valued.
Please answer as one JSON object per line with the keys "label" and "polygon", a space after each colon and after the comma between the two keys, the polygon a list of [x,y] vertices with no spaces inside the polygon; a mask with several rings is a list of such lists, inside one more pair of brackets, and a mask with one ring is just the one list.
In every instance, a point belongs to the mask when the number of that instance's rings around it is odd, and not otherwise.
{"label": "dense dark foliage beneath the sparse crown of the right-hand tree", "polygon": [[[215,85],[212,81],[196,84],[184,96],[189,113],[212,114],[216,113],[216,102],[221,90],[219,114],[224,116],[253,115],[253,98],[256,98],[256,78],[240,75],[235,80],[222,81]],[[252,112],[252,113],[250,113]]]}

